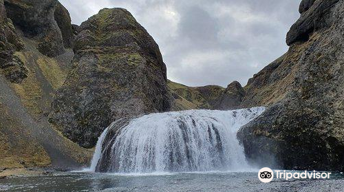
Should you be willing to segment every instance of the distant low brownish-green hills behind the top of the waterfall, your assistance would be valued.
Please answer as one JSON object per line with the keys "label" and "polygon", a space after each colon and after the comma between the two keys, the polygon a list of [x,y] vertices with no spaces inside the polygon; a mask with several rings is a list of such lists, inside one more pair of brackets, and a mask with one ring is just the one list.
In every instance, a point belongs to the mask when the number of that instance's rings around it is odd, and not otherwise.
{"label": "distant low brownish-green hills behind the top of the waterfall", "polygon": [[237,109],[245,96],[240,83],[234,81],[225,89],[217,85],[204,87],[188,87],[168,81],[173,94],[172,109],[175,111],[186,109]]}

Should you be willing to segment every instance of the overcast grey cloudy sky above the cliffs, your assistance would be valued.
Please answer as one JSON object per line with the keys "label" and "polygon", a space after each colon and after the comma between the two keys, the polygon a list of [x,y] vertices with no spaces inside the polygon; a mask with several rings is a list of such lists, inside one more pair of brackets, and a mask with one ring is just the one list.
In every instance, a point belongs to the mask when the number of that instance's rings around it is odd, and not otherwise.
{"label": "overcast grey cloudy sky above the cliffs", "polygon": [[60,0],[80,24],[126,8],[160,46],[168,78],[189,86],[246,85],[284,54],[301,0]]}

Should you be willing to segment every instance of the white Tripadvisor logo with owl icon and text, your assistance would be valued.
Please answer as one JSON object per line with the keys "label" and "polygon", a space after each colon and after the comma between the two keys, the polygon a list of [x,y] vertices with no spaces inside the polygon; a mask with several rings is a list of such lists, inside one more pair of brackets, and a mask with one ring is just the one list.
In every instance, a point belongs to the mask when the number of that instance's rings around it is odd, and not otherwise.
{"label": "white Tripadvisor logo with owl icon and text", "polygon": [[331,173],[328,172],[316,172],[316,171],[302,171],[302,172],[291,172],[291,171],[272,171],[268,167],[261,168],[258,172],[258,178],[261,182],[271,182],[276,175],[277,179],[330,179]]}

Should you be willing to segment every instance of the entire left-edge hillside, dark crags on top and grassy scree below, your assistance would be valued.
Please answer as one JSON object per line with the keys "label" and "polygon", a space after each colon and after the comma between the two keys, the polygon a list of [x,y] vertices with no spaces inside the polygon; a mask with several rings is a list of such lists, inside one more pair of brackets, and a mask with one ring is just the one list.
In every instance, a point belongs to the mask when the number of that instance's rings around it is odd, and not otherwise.
{"label": "entire left-edge hillside, dark crags on top and grassy scree below", "polygon": [[[0,0],[0,168],[65,169],[87,164],[92,156],[47,122],[52,95],[74,55],[61,41],[67,27],[56,28],[55,19],[68,21],[65,9],[54,16],[59,6],[57,1]],[[45,39],[47,34],[54,38]],[[44,43],[49,45],[42,52]]]}

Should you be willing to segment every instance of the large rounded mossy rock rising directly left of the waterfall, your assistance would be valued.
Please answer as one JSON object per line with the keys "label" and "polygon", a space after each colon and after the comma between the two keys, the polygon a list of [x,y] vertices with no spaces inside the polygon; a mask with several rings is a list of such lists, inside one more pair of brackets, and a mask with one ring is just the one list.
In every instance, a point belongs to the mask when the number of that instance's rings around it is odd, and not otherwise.
{"label": "large rounded mossy rock rising directly left of the waterfall", "polygon": [[170,109],[159,47],[127,10],[100,10],[76,30],[74,64],[50,114],[67,138],[94,147],[111,122]]}

